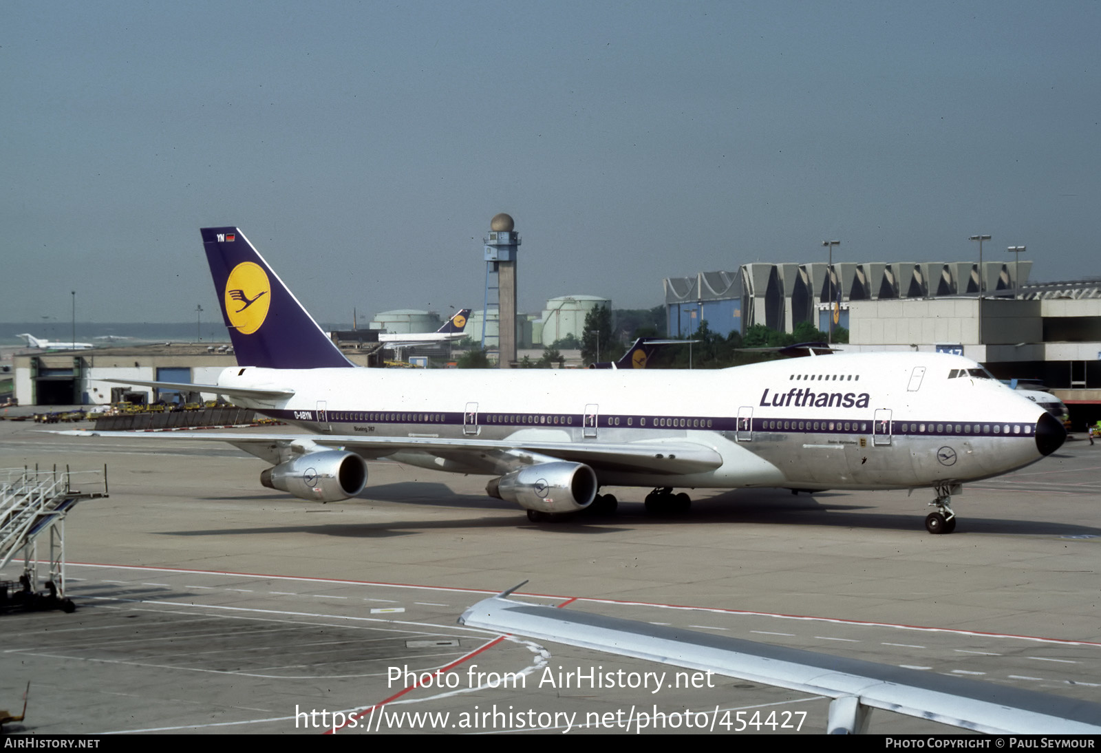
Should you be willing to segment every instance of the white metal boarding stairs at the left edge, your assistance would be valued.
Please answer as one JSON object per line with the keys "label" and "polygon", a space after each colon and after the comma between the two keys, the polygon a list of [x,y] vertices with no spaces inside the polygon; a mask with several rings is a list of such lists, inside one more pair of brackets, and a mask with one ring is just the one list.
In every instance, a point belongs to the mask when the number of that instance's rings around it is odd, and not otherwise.
{"label": "white metal boarding stairs at the left edge", "polygon": [[[79,491],[73,483],[101,491]],[[0,581],[0,612],[9,609],[62,609],[76,605],[65,596],[65,516],[83,500],[106,498],[102,471],[64,471],[55,467],[0,470],[0,569],[23,557],[18,581]],[[39,539],[50,537],[50,576],[39,586]]]}

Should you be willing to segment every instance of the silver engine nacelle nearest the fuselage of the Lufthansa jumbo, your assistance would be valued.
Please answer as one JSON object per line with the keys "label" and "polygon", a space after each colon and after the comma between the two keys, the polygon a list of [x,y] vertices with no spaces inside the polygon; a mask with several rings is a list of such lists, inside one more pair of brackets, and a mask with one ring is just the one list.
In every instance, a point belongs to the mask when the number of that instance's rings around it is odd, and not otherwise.
{"label": "silver engine nacelle nearest the fuselage of the Lufthansa jumbo", "polygon": [[486,485],[490,496],[525,510],[567,513],[584,510],[597,496],[597,474],[580,462],[541,462],[512,471]]}

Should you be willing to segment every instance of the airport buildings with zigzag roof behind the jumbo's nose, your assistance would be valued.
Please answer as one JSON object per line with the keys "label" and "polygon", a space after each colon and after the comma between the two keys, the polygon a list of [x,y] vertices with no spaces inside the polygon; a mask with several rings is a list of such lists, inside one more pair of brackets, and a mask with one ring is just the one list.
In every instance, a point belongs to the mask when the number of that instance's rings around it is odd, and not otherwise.
{"label": "airport buildings with zigzag roof behind the jumbo's nose", "polygon": [[[1101,418],[1101,280],[1029,283],[1032,262],[744,264],[664,281],[671,337],[849,330],[846,350],[939,350],[999,379],[1042,382],[1076,422]],[[1076,428],[1081,428],[1076,427]]]}

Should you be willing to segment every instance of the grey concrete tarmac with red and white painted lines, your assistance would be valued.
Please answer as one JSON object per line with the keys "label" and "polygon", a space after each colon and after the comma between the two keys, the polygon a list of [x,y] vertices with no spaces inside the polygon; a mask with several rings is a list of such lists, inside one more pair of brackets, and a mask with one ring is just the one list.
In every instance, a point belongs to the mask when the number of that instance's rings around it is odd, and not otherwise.
{"label": "grey concrete tarmac with red and white painted lines", "polygon": [[[110,496],[66,523],[77,611],[0,614],[0,708],[31,683],[13,733],[320,733],[364,710],[337,733],[826,728],[821,697],[673,687],[691,673],[456,623],[525,579],[513,598],[1101,699],[1101,445],[1084,440],[969,484],[956,533],[933,536],[924,491],[697,490],[687,517],[654,519],[647,490],[611,489],[614,517],[535,525],[483,477],[372,461],[358,499],[318,504],[217,441],[45,428],[0,422],[0,468],[106,463]],[[958,730],[877,710],[871,731]]]}

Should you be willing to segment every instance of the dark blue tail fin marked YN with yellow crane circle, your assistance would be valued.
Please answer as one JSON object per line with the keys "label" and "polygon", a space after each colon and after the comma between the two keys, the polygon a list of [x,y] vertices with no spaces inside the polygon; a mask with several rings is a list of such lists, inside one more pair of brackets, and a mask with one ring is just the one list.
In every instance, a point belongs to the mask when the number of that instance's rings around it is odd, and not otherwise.
{"label": "dark blue tail fin marked YN with yellow crane circle", "polygon": [[203,228],[237,362],[264,369],[352,367],[239,229]]}

